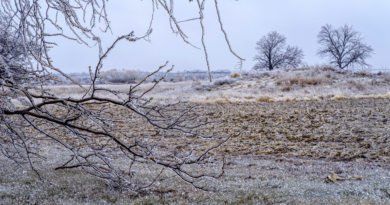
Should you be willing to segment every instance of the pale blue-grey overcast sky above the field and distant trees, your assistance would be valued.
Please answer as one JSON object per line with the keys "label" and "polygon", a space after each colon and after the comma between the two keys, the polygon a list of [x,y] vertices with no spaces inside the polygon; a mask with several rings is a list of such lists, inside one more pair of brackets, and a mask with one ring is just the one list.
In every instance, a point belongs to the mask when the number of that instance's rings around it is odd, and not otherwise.
{"label": "pale blue-grey overcast sky above the field and distant trees", "polygon": [[[118,36],[131,31],[136,36],[144,35],[151,19],[151,2],[108,1],[107,13],[112,33],[102,33],[99,28],[94,30],[101,37],[103,48],[107,49]],[[303,61],[309,65],[326,63],[326,59],[316,55],[319,47],[317,34],[326,24],[336,28],[352,25],[361,32],[364,42],[374,48],[374,55],[368,63],[375,69],[390,68],[389,0],[219,0],[218,5],[233,50],[246,59],[244,70],[250,70],[255,65],[256,42],[271,31],[284,35],[287,45],[300,47],[305,55]],[[174,14],[178,21],[199,17],[196,0],[176,0]],[[233,71],[239,60],[229,52],[214,0],[205,3],[204,25],[211,70]],[[150,42],[120,42],[105,59],[103,70],[154,71],[166,61],[169,61],[169,68],[175,66],[176,72],[206,70],[199,20],[180,23],[180,26],[188,41],[201,49],[186,44],[180,36],[172,33],[169,16],[160,6],[154,16]],[[52,28],[48,31],[55,32]],[[51,50],[51,57],[55,65],[66,73],[88,72],[88,66],[96,66],[97,46],[87,47],[58,37],[54,41],[59,46]]]}

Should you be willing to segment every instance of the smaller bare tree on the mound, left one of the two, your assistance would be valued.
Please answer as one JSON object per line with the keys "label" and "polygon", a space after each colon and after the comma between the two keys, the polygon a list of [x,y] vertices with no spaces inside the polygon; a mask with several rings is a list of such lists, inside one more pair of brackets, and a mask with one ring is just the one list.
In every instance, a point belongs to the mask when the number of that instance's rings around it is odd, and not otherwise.
{"label": "smaller bare tree on the mound, left one of the two", "polygon": [[276,31],[268,33],[256,43],[258,55],[254,69],[280,67],[297,67],[303,59],[302,49],[296,46],[286,46],[286,37]]}

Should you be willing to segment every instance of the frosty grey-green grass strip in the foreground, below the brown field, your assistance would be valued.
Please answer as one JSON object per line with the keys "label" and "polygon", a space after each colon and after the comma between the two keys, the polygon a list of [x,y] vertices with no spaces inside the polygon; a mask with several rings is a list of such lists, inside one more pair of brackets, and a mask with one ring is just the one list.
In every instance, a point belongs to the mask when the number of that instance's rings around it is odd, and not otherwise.
{"label": "frosty grey-green grass strip in the foreground, below the brown field", "polygon": [[[63,154],[60,150],[50,152],[54,159]],[[40,167],[45,177],[41,182],[32,171],[1,158],[0,204],[390,203],[389,166],[362,161],[229,157],[220,180],[199,183],[211,191],[196,190],[166,171],[154,186],[138,194],[110,190],[104,181],[78,169],[54,171],[55,166],[48,160]],[[155,173],[154,169],[145,170],[140,177],[148,178]],[[365,176],[368,180],[327,183],[325,177],[329,171],[340,176]]]}

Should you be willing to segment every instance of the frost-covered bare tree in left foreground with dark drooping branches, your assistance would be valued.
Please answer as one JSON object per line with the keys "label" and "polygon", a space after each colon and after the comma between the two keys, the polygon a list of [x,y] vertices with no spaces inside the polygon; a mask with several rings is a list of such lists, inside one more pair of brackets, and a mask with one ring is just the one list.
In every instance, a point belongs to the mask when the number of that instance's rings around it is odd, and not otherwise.
{"label": "frost-covered bare tree in left foreground with dark drooping branches", "polygon": [[[154,12],[158,8],[168,13],[171,29],[191,44],[180,23],[190,20],[202,22],[204,0],[198,0],[200,16],[183,21],[175,18],[174,0],[151,0],[153,13],[145,34],[135,36],[134,32],[129,32],[119,36],[107,49],[103,49],[103,39],[98,35],[111,29],[105,0],[0,2],[0,17],[6,19],[1,21],[0,27],[4,41],[1,49],[5,49],[2,52],[6,53],[0,55],[3,70],[0,75],[0,151],[4,156],[19,165],[30,166],[43,178],[36,166],[40,160],[45,160],[40,149],[47,142],[49,146],[55,143],[69,154],[69,159],[62,159],[64,164],[56,170],[81,168],[106,180],[111,187],[135,192],[150,187],[165,169],[196,188],[203,188],[197,183],[200,179],[219,178],[223,174],[225,161],[216,164],[214,160],[208,160],[211,157],[208,154],[232,135],[213,136],[199,130],[199,127],[211,122],[200,114],[201,110],[196,106],[183,102],[163,105],[145,98],[173,69],[173,65],[165,76],[142,92],[139,86],[166,67],[168,62],[137,85],[129,85],[125,92],[97,85],[99,80],[104,80],[100,73],[103,62],[117,44],[148,40]],[[217,0],[215,5],[219,16]],[[58,19],[65,24],[60,24]],[[102,24],[103,29],[100,27]],[[221,21],[220,24],[223,28]],[[58,32],[50,33],[47,30],[49,26],[54,26]],[[205,47],[203,26],[201,29]],[[43,86],[56,80],[52,71],[77,84],[51,59],[50,48],[57,45],[52,37],[63,37],[87,46],[94,42],[97,44],[98,61],[89,69],[92,83],[87,87],[79,85],[85,90],[81,98],[61,98]],[[228,43],[227,37],[226,41]],[[14,54],[12,47],[7,46],[15,43],[20,55]],[[15,56],[24,56],[21,71],[12,69]],[[143,132],[139,132],[140,127]],[[189,145],[188,140],[195,143]],[[175,144],[166,146],[172,141]],[[185,148],[179,149],[177,143]],[[139,170],[134,168],[137,164],[150,163],[159,167],[153,179],[134,177],[133,172]],[[210,169],[202,170],[199,164]],[[217,165],[221,168],[220,173],[213,172]],[[124,166],[127,166],[126,170]]]}

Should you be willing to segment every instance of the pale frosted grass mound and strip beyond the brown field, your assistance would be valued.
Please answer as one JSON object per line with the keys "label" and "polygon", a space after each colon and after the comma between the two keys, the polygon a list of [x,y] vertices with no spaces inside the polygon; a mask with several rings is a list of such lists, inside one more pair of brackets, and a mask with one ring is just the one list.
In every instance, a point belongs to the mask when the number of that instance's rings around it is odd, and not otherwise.
{"label": "pale frosted grass mound and strip beyond the brown field", "polygon": [[[99,85],[120,91],[128,91],[130,85]],[[134,85],[133,85],[134,86]],[[141,85],[140,91],[152,87]],[[50,86],[61,97],[82,97],[85,91],[77,86]],[[390,73],[338,70],[329,66],[310,68],[248,71],[236,78],[225,77],[209,81],[161,82],[145,97],[159,102],[192,101],[302,101],[346,98],[383,98],[390,90]],[[387,95],[387,98],[390,95]]]}

